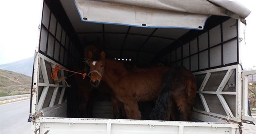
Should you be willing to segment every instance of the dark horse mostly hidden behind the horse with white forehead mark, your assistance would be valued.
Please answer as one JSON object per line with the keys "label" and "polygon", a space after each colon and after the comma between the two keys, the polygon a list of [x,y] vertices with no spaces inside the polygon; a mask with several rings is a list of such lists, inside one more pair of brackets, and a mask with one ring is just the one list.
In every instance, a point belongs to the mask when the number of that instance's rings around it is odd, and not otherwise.
{"label": "dark horse mostly hidden behind the horse with white forehead mark", "polygon": [[[97,54],[99,47],[97,42],[88,43],[84,48],[84,57],[86,61],[90,61],[88,58],[88,51]],[[76,71],[82,71],[81,73],[89,73],[90,67],[86,63],[80,63],[74,68]],[[92,110],[94,108],[94,102],[96,97],[101,93],[103,95],[110,95],[113,104],[114,118],[125,118],[124,106],[122,102],[116,99],[113,90],[106,84],[101,83],[97,89],[90,85],[90,78],[83,77],[81,75],[75,75],[76,86],[78,89],[78,107],[80,115],[82,117],[93,118]]]}

